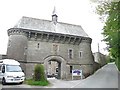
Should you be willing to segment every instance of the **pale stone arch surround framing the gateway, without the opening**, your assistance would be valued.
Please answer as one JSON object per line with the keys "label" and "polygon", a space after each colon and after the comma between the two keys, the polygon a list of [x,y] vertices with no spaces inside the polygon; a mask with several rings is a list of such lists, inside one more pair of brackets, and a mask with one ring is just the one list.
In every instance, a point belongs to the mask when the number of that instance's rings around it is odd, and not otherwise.
{"label": "pale stone arch surround framing the gateway, without the opening", "polygon": [[48,56],[44,59],[45,75],[48,74],[48,62],[55,61],[58,63],[58,78],[66,79],[66,61],[60,56]]}

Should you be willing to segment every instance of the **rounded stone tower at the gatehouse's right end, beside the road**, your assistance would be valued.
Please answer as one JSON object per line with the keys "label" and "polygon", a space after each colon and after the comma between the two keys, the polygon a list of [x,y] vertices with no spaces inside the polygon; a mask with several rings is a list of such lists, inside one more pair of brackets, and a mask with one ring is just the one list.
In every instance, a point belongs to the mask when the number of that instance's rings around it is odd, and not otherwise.
{"label": "rounded stone tower at the gatehouse's right end, beside the road", "polygon": [[83,75],[85,77],[91,75],[94,72],[94,57],[91,51],[91,38],[82,38],[80,43],[80,49],[81,51],[84,51],[82,53],[83,57],[81,64],[81,69],[83,70]]}

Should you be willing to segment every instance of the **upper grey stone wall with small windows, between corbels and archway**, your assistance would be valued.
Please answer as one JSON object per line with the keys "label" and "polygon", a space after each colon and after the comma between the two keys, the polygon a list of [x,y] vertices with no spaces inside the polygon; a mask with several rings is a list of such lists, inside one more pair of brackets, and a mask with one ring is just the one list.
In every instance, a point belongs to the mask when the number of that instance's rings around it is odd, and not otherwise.
{"label": "upper grey stone wall with small windows, between corbels and archway", "polygon": [[[39,43],[39,47],[38,47]],[[55,47],[57,46],[57,47]],[[56,49],[55,49],[56,48]],[[72,50],[73,58],[69,58],[69,49]],[[82,56],[79,54],[82,52]],[[44,62],[48,56],[61,56],[68,63],[73,64],[93,64],[92,52],[89,43],[82,43],[80,45],[49,43],[40,41],[28,41],[27,61],[28,62]]]}

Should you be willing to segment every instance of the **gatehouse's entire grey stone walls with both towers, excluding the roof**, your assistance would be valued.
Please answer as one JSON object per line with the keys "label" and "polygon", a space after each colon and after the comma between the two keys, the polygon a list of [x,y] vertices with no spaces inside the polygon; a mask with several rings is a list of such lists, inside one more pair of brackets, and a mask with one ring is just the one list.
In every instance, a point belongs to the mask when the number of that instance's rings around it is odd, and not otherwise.
{"label": "gatehouse's entire grey stone walls with both towers, excluding the roof", "polygon": [[61,79],[71,76],[70,66],[77,65],[78,69],[83,70],[85,77],[94,72],[90,38],[15,28],[10,29],[8,34],[8,58],[21,63],[27,78],[32,77],[34,65],[38,63],[45,65],[47,73],[46,65],[49,60],[56,60],[61,64]]}

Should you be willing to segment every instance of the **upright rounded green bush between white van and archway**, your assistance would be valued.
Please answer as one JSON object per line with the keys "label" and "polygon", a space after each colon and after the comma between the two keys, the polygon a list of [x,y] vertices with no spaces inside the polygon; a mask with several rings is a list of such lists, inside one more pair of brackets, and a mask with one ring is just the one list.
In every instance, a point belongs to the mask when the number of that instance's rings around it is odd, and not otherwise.
{"label": "upright rounded green bush between white van and archway", "polygon": [[42,64],[37,64],[34,70],[34,80],[35,81],[46,81],[44,67]]}

